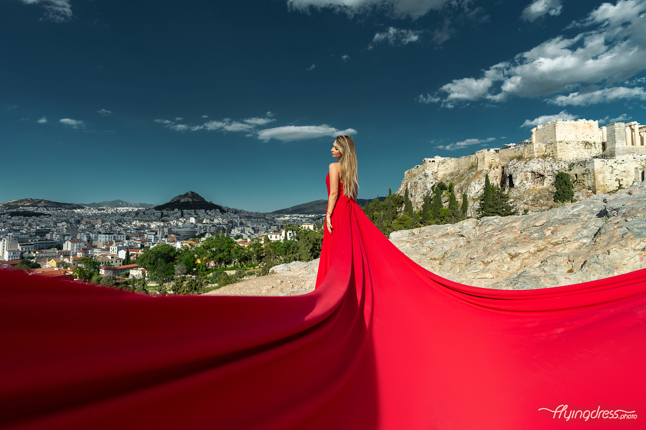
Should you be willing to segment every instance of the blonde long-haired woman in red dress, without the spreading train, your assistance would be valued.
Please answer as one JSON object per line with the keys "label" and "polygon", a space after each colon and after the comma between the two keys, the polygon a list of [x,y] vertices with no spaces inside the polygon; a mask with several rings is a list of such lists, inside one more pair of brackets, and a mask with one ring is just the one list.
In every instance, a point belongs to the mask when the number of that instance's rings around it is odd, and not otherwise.
{"label": "blonde long-haired woman in red dress, without the spreading train", "polygon": [[344,218],[344,216],[353,205],[357,207],[356,199],[357,191],[359,190],[355,141],[350,136],[337,136],[337,139],[332,144],[331,153],[338,161],[329,165],[329,173],[326,178],[328,209],[325,218],[326,225],[323,231],[321,259],[320,263],[318,263],[317,287],[328,272],[332,255],[342,234],[340,221],[348,219]]}

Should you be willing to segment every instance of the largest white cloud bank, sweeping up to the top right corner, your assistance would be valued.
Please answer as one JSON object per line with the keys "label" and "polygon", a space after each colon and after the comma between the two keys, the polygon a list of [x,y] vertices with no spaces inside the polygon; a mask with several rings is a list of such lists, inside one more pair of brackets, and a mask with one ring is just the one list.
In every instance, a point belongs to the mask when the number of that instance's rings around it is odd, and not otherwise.
{"label": "largest white cloud bank, sweeping up to the top right corner", "polygon": [[422,94],[417,99],[451,108],[480,99],[503,102],[511,97],[572,92],[590,85],[610,90],[646,69],[646,50],[642,48],[646,45],[646,25],[640,18],[644,12],[643,0],[603,3],[583,21],[571,25],[594,26],[592,30],[570,38],[554,37],[510,61],[493,65],[480,77],[454,79],[435,94]]}

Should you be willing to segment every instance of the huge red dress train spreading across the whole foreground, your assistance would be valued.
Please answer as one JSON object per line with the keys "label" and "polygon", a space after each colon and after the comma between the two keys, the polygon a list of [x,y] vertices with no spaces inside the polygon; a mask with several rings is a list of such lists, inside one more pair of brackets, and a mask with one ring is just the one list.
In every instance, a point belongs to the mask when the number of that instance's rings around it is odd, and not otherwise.
{"label": "huge red dress train spreading across the whole foreground", "polygon": [[335,213],[331,264],[302,296],[151,298],[0,271],[0,426],[644,427],[646,271],[470,287],[408,259],[354,201]]}

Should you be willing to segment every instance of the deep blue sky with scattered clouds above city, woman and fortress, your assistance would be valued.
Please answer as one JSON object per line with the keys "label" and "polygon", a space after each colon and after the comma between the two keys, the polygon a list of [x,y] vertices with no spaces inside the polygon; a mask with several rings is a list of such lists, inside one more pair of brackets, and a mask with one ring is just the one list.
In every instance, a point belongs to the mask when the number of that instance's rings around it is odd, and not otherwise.
{"label": "deep blue sky with scattered clouds above city, woman and fortress", "polygon": [[556,118],[643,121],[646,0],[5,0],[0,200],[270,211]]}

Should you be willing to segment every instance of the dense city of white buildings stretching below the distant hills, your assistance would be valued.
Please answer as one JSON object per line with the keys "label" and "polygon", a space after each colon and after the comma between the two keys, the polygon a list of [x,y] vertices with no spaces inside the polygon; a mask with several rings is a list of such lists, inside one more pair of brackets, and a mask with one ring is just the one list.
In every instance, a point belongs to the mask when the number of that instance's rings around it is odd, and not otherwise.
{"label": "dense city of white buildings stretching below the distant hills", "polygon": [[[198,194],[190,193],[197,198],[180,205],[203,204]],[[130,278],[137,279],[145,269],[142,272],[130,261],[136,261],[144,249],[160,244],[178,250],[195,247],[216,234],[241,247],[248,247],[254,240],[284,241],[286,234],[287,240],[293,240],[294,232],[285,227],[314,230],[323,216],[247,212],[228,207],[156,210],[9,206],[12,208],[0,205],[0,267],[16,267],[28,260],[34,266],[29,269],[32,274],[68,280],[76,278],[72,269],[81,258],[94,258],[101,275],[129,271]]]}

